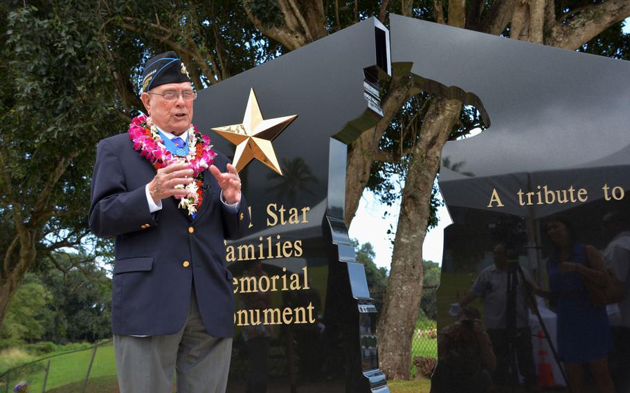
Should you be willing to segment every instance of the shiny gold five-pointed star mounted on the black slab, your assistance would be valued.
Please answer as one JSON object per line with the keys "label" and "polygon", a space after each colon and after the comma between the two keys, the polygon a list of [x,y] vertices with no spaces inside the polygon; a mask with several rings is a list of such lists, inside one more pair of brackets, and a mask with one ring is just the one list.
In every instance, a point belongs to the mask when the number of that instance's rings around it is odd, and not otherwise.
{"label": "shiny gold five-pointed star mounted on the black slab", "polygon": [[282,174],[271,140],[276,138],[298,115],[264,120],[254,89],[249,91],[249,100],[243,122],[236,125],[213,128],[220,136],[236,145],[232,165],[240,172],[250,161],[256,158],[272,170]]}

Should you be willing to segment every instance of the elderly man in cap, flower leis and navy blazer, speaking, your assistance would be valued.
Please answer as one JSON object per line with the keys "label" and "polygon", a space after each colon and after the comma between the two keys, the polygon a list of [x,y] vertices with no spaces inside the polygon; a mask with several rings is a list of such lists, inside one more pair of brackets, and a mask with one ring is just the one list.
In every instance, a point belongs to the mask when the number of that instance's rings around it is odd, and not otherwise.
{"label": "elderly man in cap, flower leis and navy blazer, speaking", "polygon": [[89,225],[116,237],[111,292],[120,392],[224,392],[233,336],[224,239],[249,217],[241,182],[192,126],[192,90],[174,52],[148,60],[138,116],[101,140]]}

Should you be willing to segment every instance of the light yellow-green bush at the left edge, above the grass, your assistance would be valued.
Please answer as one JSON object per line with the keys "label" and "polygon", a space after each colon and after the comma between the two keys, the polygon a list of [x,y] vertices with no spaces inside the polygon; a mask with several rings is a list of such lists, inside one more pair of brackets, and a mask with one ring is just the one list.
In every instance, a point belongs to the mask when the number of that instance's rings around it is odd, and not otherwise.
{"label": "light yellow-green bush at the left edge, above the grass", "polygon": [[51,296],[35,275],[27,275],[12,298],[5,321],[0,328],[0,349],[44,334],[44,305]]}

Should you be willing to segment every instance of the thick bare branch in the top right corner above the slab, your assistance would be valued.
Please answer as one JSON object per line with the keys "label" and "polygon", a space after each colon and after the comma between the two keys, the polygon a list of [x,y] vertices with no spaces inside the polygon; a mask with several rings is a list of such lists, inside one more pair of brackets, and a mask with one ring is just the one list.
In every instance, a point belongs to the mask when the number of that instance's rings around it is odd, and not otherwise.
{"label": "thick bare branch in the top right corner above the slab", "polygon": [[630,1],[627,0],[608,0],[586,6],[566,24],[555,24],[545,44],[575,51],[602,31],[629,16]]}

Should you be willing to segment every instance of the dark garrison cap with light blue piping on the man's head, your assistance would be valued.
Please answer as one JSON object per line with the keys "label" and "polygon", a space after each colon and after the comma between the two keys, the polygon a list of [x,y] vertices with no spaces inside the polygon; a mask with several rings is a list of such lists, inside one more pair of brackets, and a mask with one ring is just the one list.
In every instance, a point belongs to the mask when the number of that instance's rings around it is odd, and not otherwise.
{"label": "dark garrison cap with light blue piping on the man's head", "polygon": [[142,91],[150,91],[161,84],[181,82],[192,81],[177,53],[172,51],[160,53],[145,63],[142,73]]}

